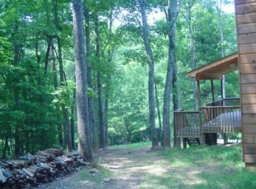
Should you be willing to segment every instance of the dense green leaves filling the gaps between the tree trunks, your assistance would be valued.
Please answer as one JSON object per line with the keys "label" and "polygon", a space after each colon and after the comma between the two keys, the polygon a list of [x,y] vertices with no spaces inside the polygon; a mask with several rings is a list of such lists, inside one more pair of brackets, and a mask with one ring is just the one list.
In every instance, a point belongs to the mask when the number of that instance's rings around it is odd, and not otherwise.
{"label": "dense green leaves filling the gaps between the tree trunks", "polygon": [[[213,6],[215,1],[179,2],[182,6],[179,7],[176,21],[176,86],[184,110],[193,110],[193,84],[187,78],[187,72],[191,70],[190,39],[187,21],[181,13],[187,13],[187,5],[191,2],[196,68],[220,58],[221,46],[224,46],[225,55],[237,51],[234,14],[221,12],[224,26],[224,43],[221,43],[218,14]],[[89,88],[89,96],[97,101],[96,74],[100,72],[103,101],[109,100],[109,110],[104,115],[108,117],[108,140],[111,144],[119,143],[120,140],[141,141],[150,135],[150,130],[148,57],[143,47],[139,4],[130,0],[87,0],[84,3],[90,10],[93,84]],[[165,18],[167,1],[147,1],[146,5],[162,110],[168,54],[168,24]],[[95,55],[96,21],[100,36],[99,57]],[[64,79],[61,85],[58,38],[63,57]],[[62,146],[65,123],[62,107],[67,110],[69,121],[75,113],[74,73],[70,1],[1,1],[0,156],[14,155],[15,147],[22,154]],[[220,96],[220,87],[220,82],[216,81],[215,98]],[[201,82],[201,88],[204,96],[202,103],[210,102],[210,82]],[[226,75],[226,97],[238,95],[238,74],[232,72]],[[95,107],[97,110],[97,102]],[[170,108],[172,110],[172,104]],[[155,117],[158,127],[158,117]],[[20,136],[20,146],[15,146],[17,135]]]}

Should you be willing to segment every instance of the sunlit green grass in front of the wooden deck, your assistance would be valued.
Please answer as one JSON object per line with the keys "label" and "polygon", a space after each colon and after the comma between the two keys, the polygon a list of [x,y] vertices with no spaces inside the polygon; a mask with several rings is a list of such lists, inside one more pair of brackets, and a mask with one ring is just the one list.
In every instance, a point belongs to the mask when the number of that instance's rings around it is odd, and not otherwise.
{"label": "sunlit green grass in front of the wooden deck", "polygon": [[199,167],[205,171],[190,175],[192,177],[190,179],[182,179],[182,176],[177,175],[175,172],[168,176],[151,176],[148,178],[149,182],[142,183],[140,188],[256,188],[256,171],[249,171],[244,168],[241,145],[167,149],[165,151],[157,151],[156,155],[162,156],[167,160],[170,169],[183,168],[184,171],[193,171],[194,168]]}

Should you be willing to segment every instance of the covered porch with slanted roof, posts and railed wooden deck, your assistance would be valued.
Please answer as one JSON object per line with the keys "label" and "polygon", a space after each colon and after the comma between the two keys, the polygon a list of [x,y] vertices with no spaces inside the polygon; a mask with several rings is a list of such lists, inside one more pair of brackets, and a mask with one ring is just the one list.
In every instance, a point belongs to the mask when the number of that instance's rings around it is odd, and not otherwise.
{"label": "covered porch with slanted roof, posts and railed wooden deck", "polygon": [[[241,107],[240,98],[223,98],[215,100],[214,82],[221,82],[223,75],[238,69],[238,53],[231,54],[201,68],[190,71],[187,76],[195,78],[198,86],[198,111],[176,111],[174,112],[174,124],[177,143],[183,142],[184,148],[187,143],[217,143],[217,133],[241,132]],[[200,82],[211,81],[212,101],[201,104]]]}

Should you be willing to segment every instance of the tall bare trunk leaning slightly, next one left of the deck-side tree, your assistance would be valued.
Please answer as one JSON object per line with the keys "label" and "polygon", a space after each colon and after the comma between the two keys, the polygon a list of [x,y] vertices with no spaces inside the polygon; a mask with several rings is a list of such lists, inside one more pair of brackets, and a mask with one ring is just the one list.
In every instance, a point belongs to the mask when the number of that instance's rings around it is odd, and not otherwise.
{"label": "tall bare trunk leaning slightly, next one left of the deck-side tree", "polygon": [[148,23],[145,11],[145,1],[139,0],[140,13],[142,15],[142,32],[145,50],[148,54],[148,103],[149,103],[149,124],[151,127],[151,140],[152,146],[159,146],[156,135],[156,122],[155,122],[155,100],[154,100],[154,63],[153,53],[151,50],[151,43],[148,37]]}

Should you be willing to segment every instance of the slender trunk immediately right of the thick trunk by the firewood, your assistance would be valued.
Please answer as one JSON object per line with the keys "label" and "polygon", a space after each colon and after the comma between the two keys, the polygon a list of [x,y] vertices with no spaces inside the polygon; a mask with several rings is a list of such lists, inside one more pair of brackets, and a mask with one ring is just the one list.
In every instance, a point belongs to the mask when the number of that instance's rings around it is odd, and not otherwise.
{"label": "slender trunk immediately right of the thick trunk by the firewood", "polygon": [[[92,68],[91,68],[91,38],[90,38],[90,18],[89,9],[86,4],[84,4],[84,16],[86,20],[86,57],[87,57],[87,79],[88,86],[93,90],[93,80],[92,80]],[[97,153],[99,150],[98,140],[97,140],[97,125],[95,118],[95,108],[94,108],[94,96],[89,94],[89,118],[91,122],[92,130],[92,143],[94,152]]]}

